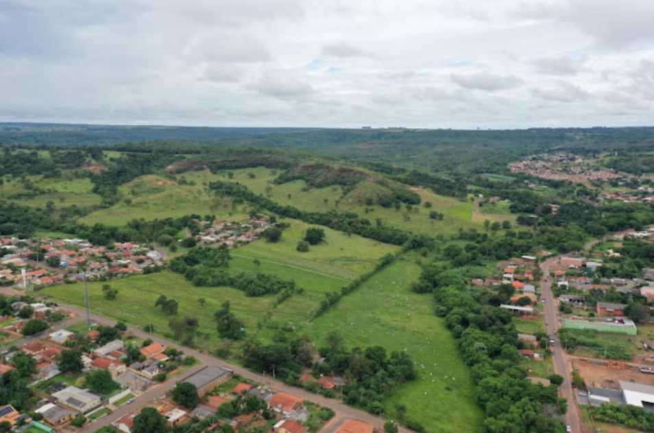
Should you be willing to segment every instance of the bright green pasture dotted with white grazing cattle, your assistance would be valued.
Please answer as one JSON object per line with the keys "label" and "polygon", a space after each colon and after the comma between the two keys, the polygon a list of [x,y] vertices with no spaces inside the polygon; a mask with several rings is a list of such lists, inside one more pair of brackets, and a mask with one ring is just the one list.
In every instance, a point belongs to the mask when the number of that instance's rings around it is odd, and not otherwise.
{"label": "bright green pasture dotted with white grazing cattle", "polygon": [[387,399],[385,414],[396,419],[395,405],[402,403],[409,408],[407,419],[427,431],[476,432],[482,413],[475,404],[470,371],[443,319],[433,313],[431,296],[411,291],[419,275],[417,264],[399,260],[299,331],[317,345],[337,331],[350,347],[406,350],[416,363],[417,379]]}

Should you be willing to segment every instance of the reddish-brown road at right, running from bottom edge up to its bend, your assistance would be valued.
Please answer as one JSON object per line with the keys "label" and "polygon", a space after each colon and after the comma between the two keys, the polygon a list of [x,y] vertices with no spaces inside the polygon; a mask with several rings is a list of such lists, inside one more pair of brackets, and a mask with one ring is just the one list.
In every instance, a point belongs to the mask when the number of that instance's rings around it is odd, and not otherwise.
{"label": "reddish-brown road at right, running from bottom edge up to its bend", "polygon": [[559,329],[559,309],[555,304],[552,287],[550,285],[550,271],[549,267],[557,262],[558,258],[550,258],[545,260],[540,265],[543,273],[541,281],[541,290],[543,298],[545,299],[545,322],[546,331],[548,335],[554,335],[555,344],[552,349],[554,351],[554,371],[555,373],[564,377],[564,383],[561,384],[559,390],[566,399],[568,399],[568,412],[566,413],[566,424],[570,425],[572,432],[585,432],[583,423],[581,422],[581,414],[579,406],[574,401],[574,391],[572,390],[572,381],[570,380],[570,369],[568,369],[568,362],[566,360],[565,351],[561,348],[559,337],[555,335],[555,330]]}

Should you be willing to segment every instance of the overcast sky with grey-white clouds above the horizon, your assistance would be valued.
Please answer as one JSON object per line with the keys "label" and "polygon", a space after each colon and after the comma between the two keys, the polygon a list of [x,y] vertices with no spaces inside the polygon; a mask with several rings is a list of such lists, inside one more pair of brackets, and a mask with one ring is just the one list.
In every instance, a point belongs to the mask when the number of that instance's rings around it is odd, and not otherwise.
{"label": "overcast sky with grey-white clouds above the horizon", "polygon": [[654,125],[652,0],[0,0],[0,121]]}

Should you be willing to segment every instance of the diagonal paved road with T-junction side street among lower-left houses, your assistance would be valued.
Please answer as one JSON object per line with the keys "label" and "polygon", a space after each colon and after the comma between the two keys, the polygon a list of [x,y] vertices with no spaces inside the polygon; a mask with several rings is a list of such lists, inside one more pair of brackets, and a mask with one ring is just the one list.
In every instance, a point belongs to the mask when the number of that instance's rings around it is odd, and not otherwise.
{"label": "diagonal paved road with T-junction side street among lower-left houses", "polygon": [[[62,305],[62,304],[60,304]],[[74,307],[74,306],[63,306],[66,310],[69,310],[71,312],[74,312],[77,314],[79,317],[84,317],[84,310],[81,310],[80,308]],[[113,325],[115,321],[112,321],[110,319],[106,319],[105,317],[100,317],[97,314],[91,314],[91,319],[97,323],[102,323],[104,325]],[[132,332],[135,336],[138,336],[140,338],[151,338],[152,341],[155,341],[156,343],[160,343],[161,345],[165,346],[171,346],[175,347],[178,350],[184,351],[185,354],[195,356],[200,361],[200,365],[194,367],[191,371],[188,373],[184,374],[182,378],[174,378],[173,380],[169,380],[165,382],[165,384],[156,386],[154,388],[151,388],[150,390],[146,391],[143,395],[140,395],[136,397],[134,403],[132,404],[125,404],[121,407],[119,407],[117,410],[112,412],[111,415],[108,415],[106,417],[102,417],[95,423],[93,423],[91,426],[88,426],[80,432],[86,433],[86,432],[93,432],[104,425],[108,425],[112,421],[119,419],[120,417],[123,417],[126,415],[128,412],[131,410],[134,410],[136,408],[140,408],[141,406],[145,405],[147,401],[150,401],[156,397],[159,397],[160,395],[165,394],[167,391],[169,391],[170,388],[173,387],[175,382],[178,382],[180,380],[183,380],[187,376],[195,373],[198,369],[204,367],[204,366],[219,366],[219,367],[226,367],[234,373],[237,373],[244,378],[248,378],[250,380],[254,380],[256,382],[265,382],[265,386],[267,388],[270,388],[273,391],[276,392],[284,392],[284,393],[289,393],[293,395],[297,395],[298,397],[301,397],[302,399],[306,399],[309,401],[314,401],[317,404],[320,404],[321,406],[327,406],[329,408],[332,408],[335,412],[335,417],[332,420],[332,422],[329,423],[329,426],[331,427],[332,425],[336,425],[336,423],[339,423],[343,419],[349,419],[349,418],[354,418],[354,419],[360,419],[361,421],[365,421],[366,423],[370,423],[374,425],[376,428],[383,428],[383,425],[385,423],[384,419],[381,419],[379,417],[375,417],[374,415],[370,415],[367,412],[363,412],[361,410],[351,408],[350,406],[346,406],[344,404],[340,404],[338,401],[334,399],[329,399],[326,397],[323,397],[322,395],[317,395],[313,393],[309,393],[303,388],[296,388],[295,386],[289,386],[287,384],[284,384],[282,382],[279,382],[278,380],[274,380],[273,378],[270,378],[269,376],[266,376],[265,378],[263,375],[258,374],[258,373],[253,373],[250,370],[244,369],[243,367],[239,367],[238,365],[234,364],[229,364],[228,362],[224,362],[223,360],[219,360],[218,358],[215,358],[214,356],[209,356],[207,354],[203,354],[195,349],[191,349],[189,347],[184,347],[180,346],[176,343],[172,343],[171,341],[167,341],[164,338],[160,338],[158,336],[153,336],[152,334],[148,334],[147,332],[144,332],[142,330],[138,330],[136,328],[129,327],[128,330]],[[406,428],[399,428],[399,431],[401,433],[410,433],[411,430],[406,429]]]}

